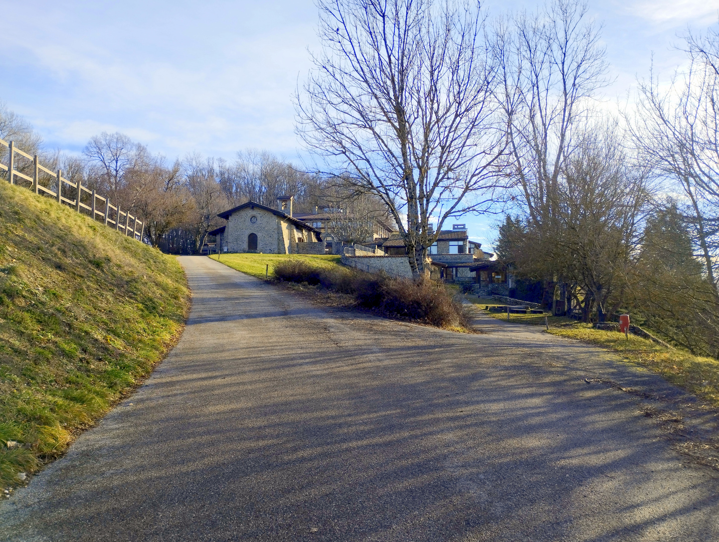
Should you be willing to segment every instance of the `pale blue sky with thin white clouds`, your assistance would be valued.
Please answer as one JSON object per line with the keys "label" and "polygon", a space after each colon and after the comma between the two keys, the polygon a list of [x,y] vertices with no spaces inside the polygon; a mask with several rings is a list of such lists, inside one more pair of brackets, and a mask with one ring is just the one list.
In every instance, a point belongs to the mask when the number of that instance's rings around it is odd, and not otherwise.
{"label": "pale blue sky with thin white clouds", "polygon": [[[488,0],[490,14],[528,1]],[[120,131],[152,152],[232,159],[262,148],[301,155],[291,95],[316,50],[311,0],[0,0],[0,101],[22,114],[47,148],[79,152],[92,135]],[[687,25],[719,19],[709,0],[590,1],[604,23],[615,83],[625,99],[636,76],[669,78],[683,61],[672,50]],[[491,217],[465,217],[472,238],[493,237]]]}

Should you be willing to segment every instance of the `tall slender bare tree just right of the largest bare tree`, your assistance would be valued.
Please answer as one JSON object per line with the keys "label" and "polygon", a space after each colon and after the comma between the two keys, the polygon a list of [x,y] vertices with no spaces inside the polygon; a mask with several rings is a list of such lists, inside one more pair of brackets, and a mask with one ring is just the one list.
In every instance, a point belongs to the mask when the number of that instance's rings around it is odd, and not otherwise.
{"label": "tall slender bare tree just right of the largest bare tree", "polygon": [[583,1],[554,0],[497,26],[500,96],[519,201],[540,232],[558,219],[562,168],[594,114],[592,99],[607,83],[600,29],[586,14]]}

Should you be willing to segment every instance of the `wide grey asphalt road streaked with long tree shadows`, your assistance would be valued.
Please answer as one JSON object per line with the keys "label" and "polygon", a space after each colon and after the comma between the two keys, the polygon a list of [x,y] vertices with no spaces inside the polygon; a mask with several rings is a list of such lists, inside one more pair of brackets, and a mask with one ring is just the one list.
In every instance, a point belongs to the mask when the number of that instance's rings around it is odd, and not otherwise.
{"label": "wide grey asphalt road streaked with long tree shadows", "polygon": [[654,376],[539,330],[322,310],[180,261],[182,340],[0,506],[0,540],[719,539],[717,471],[597,383]]}

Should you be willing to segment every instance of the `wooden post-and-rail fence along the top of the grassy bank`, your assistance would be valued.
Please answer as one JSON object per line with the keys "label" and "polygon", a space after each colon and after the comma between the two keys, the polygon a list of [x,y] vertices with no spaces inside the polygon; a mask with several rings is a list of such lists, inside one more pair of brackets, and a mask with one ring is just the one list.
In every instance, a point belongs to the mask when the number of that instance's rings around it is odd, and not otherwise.
{"label": "wooden post-and-rail fence along the top of the grassy bank", "polygon": [[[16,184],[16,181],[18,181],[17,184],[23,181],[29,182],[29,188],[34,190],[35,194],[47,194],[57,200],[58,203],[65,203],[70,205],[70,207],[74,207],[77,212],[82,212],[82,209],[85,209],[90,213],[93,220],[97,220],[99,216],[105,225],[114,227],[115,230],[118,231],[122,230],[122,232],[128,236],[132,233],[133,238],[142,241],[142,236],[145,233],[145,222],[138,220],[137,217],[133,217],[129,212],[122,211],[119,204],[111,204],[109,197],[102,197],[96,194],[94,190],[87,189],[83,186],[82,181],[78,181],[77,183],[68,181],[68,179],[63,177],[63,171],[61,169],[58,169],[58,171],[50,171],[40,164],[37,160],[37,154],[30,156],[24,153],[15,146],[14,141],[8,143],[0,139],[0,145],[4,145],[9,151],[7,166],[0,163],[0,171],[8,172],[7,176],[10,184]],[[22,173],[22,171],[17,171],[18,160],[29,161],[25,165],[31,166],[29,169],[32,169],[32,176],[26,175]],[[24,169],[27,171],[28,168]],[[46,177],[49,176],[51,180],[55,179],[53,183],[55,186],[52,186],[54,190],[52,190],[50,186],[42,186],[42,184],[40,184],[40,176],[43,174]],[[65,197],[65,194],[68,196],[72,195],[73,199]],[[84,199],[87,203],[83,203],[82,201],[84,196],[86,196]],[[99,206],[98,200],[101,202]],[[138,227],[139,230],[137,229]]]}

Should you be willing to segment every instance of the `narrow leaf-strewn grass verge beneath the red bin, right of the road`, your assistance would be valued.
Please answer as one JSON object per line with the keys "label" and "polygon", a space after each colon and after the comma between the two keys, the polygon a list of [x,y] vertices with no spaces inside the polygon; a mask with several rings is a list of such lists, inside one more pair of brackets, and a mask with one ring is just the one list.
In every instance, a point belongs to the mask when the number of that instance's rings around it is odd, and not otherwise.
{"label": "narrow leaf-strewn grass verge beneath the red bin, right of the road", "polygon": [[[467,296],[470,301],[479,304],[496,305],[491,299],[476,299]],[[487,315],[506,320],[505,312],[487,312]],[[620,353],[626,361],[638,363],[664,376],[665,379],[698,395],[707,402],[719,407],[719,360],[702,358],[689,352],[664,348],[636,335],[626,339],[616,331],[593,329],[590,324],[583,324],[565,317],[549,316],[549,333],[572,339],[582,340],[609,348]],[[521,324],[544,325],[543,315],[510,315],[510,321]]]}

